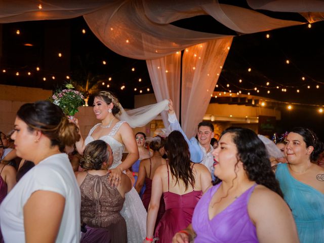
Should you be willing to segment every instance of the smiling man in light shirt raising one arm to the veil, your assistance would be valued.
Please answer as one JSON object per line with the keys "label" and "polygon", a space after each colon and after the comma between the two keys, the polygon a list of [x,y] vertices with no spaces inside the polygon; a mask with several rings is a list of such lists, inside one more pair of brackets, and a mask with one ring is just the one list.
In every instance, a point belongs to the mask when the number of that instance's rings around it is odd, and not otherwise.
{"label": "smiling man in light shirt raising one arm to the veil", "polygon": [[214,126],[208,121],[201,121],[201,123],[198,124],[198,140],[195,137],[192,137],[189,140],[181,129],[171,100],[169,102],[168,120],[170,123],[171,131],[177,130],[181,132],[185,140],[187,141],[189,145],[191,161],[205,165],[212,173],[214,171],[214,157],[212,155],[213,146],[211,145],[211,140],[214,137]]}

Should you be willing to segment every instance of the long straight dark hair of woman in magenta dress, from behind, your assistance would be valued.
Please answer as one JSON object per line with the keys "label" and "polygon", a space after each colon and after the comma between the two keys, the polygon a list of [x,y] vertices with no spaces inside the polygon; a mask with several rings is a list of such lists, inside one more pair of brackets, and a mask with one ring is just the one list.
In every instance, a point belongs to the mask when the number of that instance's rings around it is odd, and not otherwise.
{"label": "long straight dark hair of woman in magenta dress, from behind", "polygon": [[182,180],[188,188],[189,183],[194,185],[194,176],[191,168],[189,147],[179,131],[170,133],[166,140],[165,149],[168,154],[168,164],[171,175],[176,178],[176,184]]}

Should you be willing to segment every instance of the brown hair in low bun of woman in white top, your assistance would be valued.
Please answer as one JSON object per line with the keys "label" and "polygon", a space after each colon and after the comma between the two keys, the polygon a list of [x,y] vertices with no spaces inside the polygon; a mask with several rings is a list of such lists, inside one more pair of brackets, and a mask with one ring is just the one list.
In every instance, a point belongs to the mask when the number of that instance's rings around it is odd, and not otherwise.
{"label": "brown hair in low bun of woman in white top", "polygon": [[63,151],[65,145],[72,146],[80,139],[78,128],[70,123],[61,108],[50,101],[36,101],[22,105],[17,116],[27,124],[28,130],[41,131]]}

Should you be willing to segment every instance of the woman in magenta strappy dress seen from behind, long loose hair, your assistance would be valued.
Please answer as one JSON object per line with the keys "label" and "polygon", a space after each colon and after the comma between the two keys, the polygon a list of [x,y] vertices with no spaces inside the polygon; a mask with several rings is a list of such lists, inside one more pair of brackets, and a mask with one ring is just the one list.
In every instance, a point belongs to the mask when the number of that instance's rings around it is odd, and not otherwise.
{"label": "woman in magenta strappy dress seen from behind, long loose hair", "polygon": [[157,242],[170,243],[173,235],[191,222],[197,201],[209,186],[211,174],[200,164],[190,161],[188,144],[179,131],[173,131],[165,145],[168,163],[159,166],[152,181],[152,195],[147,212],[146,238],[153,241],[153,231],[163,194],[166,212],[156,226]]}

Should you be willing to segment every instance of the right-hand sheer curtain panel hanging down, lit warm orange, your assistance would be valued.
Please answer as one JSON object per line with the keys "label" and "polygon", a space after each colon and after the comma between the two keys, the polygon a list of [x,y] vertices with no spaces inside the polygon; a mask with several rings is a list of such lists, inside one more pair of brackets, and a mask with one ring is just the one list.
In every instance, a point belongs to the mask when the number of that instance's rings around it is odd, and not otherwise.
{"label": "right-hand sheer curtain panel hanging down, lit warm orange", "polygon": [[197,133],[197,124],[207,110],[231,43],[232,37],[226,37],[184,51],[181,121],[188,137]]}

